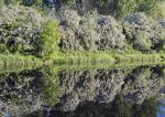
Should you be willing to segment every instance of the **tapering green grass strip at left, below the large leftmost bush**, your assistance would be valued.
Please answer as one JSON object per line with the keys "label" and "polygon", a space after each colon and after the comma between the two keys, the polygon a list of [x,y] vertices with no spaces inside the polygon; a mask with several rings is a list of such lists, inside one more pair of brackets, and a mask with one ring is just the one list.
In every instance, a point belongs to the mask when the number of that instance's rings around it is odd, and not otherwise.
{"label": "tapering green grass strip at left, below the large leftmost bush", "polygon": [[0,73],[33,70],[43,65],[43,60],[31,55],[0,54]]}

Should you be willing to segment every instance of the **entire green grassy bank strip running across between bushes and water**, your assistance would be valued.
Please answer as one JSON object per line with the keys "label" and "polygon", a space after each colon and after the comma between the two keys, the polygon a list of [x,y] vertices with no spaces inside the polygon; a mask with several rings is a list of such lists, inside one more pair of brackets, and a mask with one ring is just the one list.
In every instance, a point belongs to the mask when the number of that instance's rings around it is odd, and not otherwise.
{"label": "entire green grassy bank strip running across between bushes and water", "polygon": [[112,54],[106,52],[56,53],[51,59],[37,59],[31,55],[0,54],[0,66],[37,67],[43,65],[125,65],[125,64],[165,64],[165,54]]}

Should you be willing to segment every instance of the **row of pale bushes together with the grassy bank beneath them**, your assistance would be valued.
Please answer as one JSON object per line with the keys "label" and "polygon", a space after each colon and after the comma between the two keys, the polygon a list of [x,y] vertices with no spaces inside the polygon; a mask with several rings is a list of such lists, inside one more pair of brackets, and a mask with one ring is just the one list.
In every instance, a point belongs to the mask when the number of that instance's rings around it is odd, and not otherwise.
{"label": "row of pale bushes together with the grassy bank beneath them", "polygon": [[[9,20],[12,11],[16,15]],[[128,15],[121,23],[111,15],[85,17],[67,9],[58,20],[22,6],[6,6],[1,13],[1,66],[165,61],[164,20],[142,12]]]}

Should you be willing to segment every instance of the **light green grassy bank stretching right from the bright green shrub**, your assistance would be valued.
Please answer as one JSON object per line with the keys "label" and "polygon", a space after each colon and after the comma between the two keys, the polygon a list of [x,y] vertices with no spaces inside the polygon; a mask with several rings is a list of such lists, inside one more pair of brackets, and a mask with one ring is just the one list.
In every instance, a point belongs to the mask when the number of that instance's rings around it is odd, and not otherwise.
{"label": "light green grassy bank stretching right from the bright green shrub", "polygon": [[164,53],[107,53],[107,52],[67,52],[51,56],[55,64],[132,64],[132,63],[165,63]]}

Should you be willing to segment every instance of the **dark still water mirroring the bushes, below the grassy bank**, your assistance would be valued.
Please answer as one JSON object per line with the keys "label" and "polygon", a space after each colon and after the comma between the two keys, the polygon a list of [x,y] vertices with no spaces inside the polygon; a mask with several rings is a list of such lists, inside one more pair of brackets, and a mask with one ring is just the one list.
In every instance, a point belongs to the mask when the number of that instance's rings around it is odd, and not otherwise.
{"label": "dark still water mirroring the bushes, below the grassy bank", "polygon": [[2,71],[0,117],[165,117],[165,66]]}

